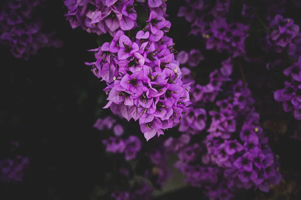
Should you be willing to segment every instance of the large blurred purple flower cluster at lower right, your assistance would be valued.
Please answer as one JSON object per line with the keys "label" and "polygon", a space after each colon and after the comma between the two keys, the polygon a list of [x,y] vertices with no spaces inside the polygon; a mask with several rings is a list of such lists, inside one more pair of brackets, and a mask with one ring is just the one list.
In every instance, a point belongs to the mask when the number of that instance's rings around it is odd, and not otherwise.
{"label": "large blurred purple flower cluster at lower right", "polygon": [[233,86],[228,98],[217,101],[219,111],[210,111],[212,122],[205,140],[206,156],[226,168],[225,177],[234,179],[237,187],[248,189],[254,185],[268,191],[270,183],[279,183],[281,174],[253,103],[250,90],[241,81]]}

